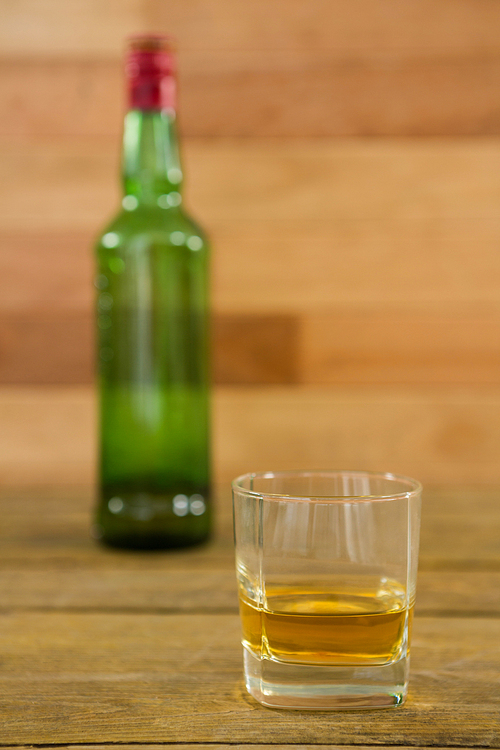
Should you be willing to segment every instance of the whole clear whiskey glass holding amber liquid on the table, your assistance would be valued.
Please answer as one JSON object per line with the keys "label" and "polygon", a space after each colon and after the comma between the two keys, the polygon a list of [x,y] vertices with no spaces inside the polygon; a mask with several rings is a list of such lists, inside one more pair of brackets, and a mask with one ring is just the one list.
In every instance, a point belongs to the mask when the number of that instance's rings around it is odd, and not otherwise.
{"label": "whole clear whiskey glass holding amber liquid on the table", "polygon": [[408,690],[421,485],[363,471],[232,484],[248,692],[274,708],[401,705]]}

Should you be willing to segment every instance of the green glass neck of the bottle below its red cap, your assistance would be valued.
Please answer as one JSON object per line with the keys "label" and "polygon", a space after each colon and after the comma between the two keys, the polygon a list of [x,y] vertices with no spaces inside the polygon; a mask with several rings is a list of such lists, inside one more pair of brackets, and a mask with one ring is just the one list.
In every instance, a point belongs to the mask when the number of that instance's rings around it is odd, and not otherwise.
{"label": "green glass neck of the bottle below its red cap", "polygon": [[126,114],[122,176],[129,205],[180,204],[182,169],[173,109],[132,109]]}

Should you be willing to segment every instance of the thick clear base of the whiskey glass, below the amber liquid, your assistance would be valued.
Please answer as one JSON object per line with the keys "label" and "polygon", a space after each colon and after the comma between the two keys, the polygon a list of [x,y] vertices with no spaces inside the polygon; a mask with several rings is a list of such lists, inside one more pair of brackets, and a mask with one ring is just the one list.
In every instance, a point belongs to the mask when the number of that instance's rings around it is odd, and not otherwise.
{"label": "thick clear base of the whiskey glass, below the amber liquid", "polygon": [[380,666],[284,664],[243,647],[248,692],[270,708],[361,709],[400,706],[409,657]]}

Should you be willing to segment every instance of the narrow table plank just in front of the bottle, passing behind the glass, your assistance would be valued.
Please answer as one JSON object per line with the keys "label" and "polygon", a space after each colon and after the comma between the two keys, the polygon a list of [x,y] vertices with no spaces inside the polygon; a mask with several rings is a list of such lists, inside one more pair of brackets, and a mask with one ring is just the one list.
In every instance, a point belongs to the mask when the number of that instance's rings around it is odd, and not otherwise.
{"label": "narrow table plank just in front of the bottle, passing behind the glass", "polygon": [[[99,557],[102,551],[95,548],[94,558]],[[170,566],[168,556],[160,570],[122,570],[116,556],[106,566],[89,555],[84,570],[54,570],[50,560],[36,561],[43,570],[13,569],[6,560],[9,567],[0,563],[0,611],[237,612],[232,550],[225,560],[218,556],[216,570],[206,570],[197,559],[198,569],[184,570]],[[205,562],[209,568],[214,564],[210,551]],[[417,614],[500,617],[500,571],[423,570],[417,594]]]}

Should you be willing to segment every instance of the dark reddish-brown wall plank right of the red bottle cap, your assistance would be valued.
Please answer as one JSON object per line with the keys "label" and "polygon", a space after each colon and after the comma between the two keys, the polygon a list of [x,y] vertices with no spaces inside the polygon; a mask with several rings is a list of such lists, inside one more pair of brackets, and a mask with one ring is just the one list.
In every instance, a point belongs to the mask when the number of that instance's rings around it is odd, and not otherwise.
{"label": "dark reddish-brown wall plank right of the red bottle cap", "polygon": [[[221,56],[222,57],[222,56]],[[181,76],[188,135],[498,134],[500,57],[284,54]],[[305,58],[305,59],[304,59]],[[211,67],[211,66],[207,66]],[[200,116],[201,115],[201,116]]]}

